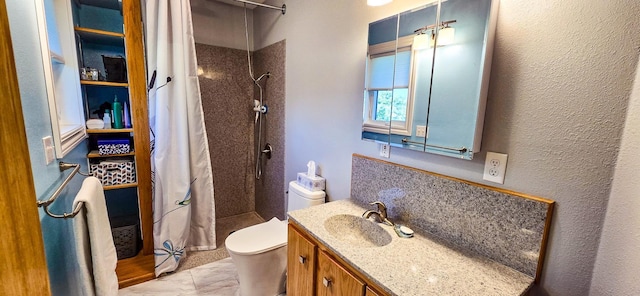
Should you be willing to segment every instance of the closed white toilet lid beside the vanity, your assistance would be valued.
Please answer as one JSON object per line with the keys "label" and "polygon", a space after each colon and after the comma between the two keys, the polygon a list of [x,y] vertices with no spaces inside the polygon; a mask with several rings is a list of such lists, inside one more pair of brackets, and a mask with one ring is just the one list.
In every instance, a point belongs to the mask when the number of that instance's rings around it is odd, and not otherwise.
{"label": "closed white toilet lid beside the vanity", "polygon": [[287,224],[273,218],[240,229],[225,240],[227,250],[236,254],[260,254],[287,245]]}

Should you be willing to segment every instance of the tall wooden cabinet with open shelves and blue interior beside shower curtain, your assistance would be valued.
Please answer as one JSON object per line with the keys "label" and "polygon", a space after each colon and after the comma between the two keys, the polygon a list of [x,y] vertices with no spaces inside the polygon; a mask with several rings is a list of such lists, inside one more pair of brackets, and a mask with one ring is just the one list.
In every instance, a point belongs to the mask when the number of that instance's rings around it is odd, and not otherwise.
{"label": "tall wooden cabinet with open shelves and blue interior beside shower curtain", "polygon": [[[78,72],[82,73],[82,68],[94,68],[100,73],[97,79],[80,74],[85,117],[103,119],[104,110],[114,102],[115,96],[123,109],[126,104],[130,117],[128,128],[87,130],[90,138],[88,162],[117,157],[134,163],[135,182],[104,186],[108,191],[107,199],[131,195],[134,204],[138,205],[134,215],[139,215],[142,250],[136,257],[120,260],[116,270],[120,287],[125,287],[155,278],[142,7],[138,0],[68,1],[74,9],[74,33],[80,61]],[[126,69],[107,64],[108,60],[114,59],[124,59]],[[100,155],[95,150],[94,140],[107,138],[129,139],[132,149],[118,155]]]}

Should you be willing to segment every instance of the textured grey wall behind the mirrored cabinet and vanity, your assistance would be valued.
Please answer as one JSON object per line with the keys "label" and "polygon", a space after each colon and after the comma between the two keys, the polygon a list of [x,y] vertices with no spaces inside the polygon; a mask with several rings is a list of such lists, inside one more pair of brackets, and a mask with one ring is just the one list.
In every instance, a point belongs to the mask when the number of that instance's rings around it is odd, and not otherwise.
{"label": "textured grey wall behind the mirrored cabinet and vanity", "polygon": [[[348,198],[351,154],[378,155],[360,140],[367,24],[424,1],[286,2],[286,15],[254,11],[258,48],[287,40],[285,180],[314,159],[329,199]],[[391,150],[393,162],[479,183],[486,151],[509,154],[500,187],[557,202],[536,294],[589,293],[638,61],[638,15],[633,0],[502,0],[482,152],[464,161]]]}

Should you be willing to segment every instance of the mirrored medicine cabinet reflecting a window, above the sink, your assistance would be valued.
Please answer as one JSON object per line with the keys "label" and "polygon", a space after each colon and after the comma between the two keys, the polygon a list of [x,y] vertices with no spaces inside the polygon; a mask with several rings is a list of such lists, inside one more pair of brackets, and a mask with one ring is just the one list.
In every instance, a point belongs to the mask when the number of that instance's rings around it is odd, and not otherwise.
{"label": "mirrored medicine cabinet reflecting a window, above the sink", "polygon": [[362,139],[472,159],[496,17],[496,0],[445,0],[369,24]]}

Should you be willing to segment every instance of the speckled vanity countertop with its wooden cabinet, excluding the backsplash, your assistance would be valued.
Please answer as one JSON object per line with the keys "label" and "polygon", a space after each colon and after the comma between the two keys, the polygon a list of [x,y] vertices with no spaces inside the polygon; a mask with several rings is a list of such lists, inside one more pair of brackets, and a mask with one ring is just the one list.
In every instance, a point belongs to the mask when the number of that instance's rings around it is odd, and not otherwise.
{"label": "speckled vanity countertop with its wooden cabinet, excluding the backsplash", "polygon": [[[391,237],[383,246],[366,234],[325,227],[334,216],[368,208],[340,200],[289,215],[287,293],[291,295],[522,295],[534,278],[430,235]],[[369,223],[372,221],[364,220]],[[357,243],[362,240],[362,243]]]}

